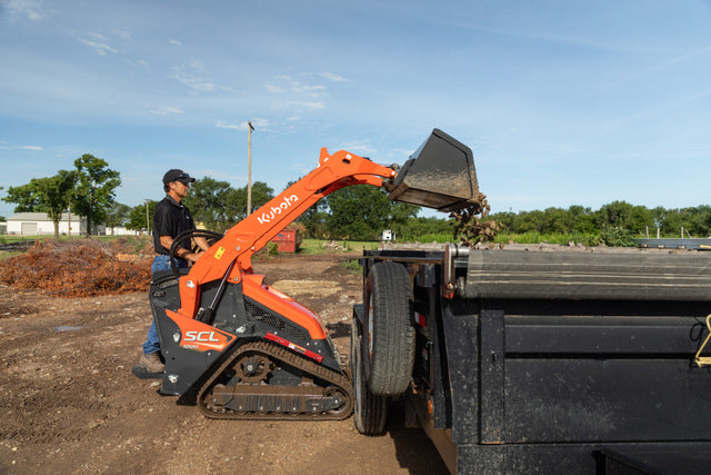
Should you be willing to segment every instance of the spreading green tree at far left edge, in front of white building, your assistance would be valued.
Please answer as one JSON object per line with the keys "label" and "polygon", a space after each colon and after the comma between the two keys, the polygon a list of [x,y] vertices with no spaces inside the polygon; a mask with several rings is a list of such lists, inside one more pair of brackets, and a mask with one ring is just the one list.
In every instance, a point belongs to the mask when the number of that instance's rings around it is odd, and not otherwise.
{"label": "spreading green tree at far left edge, in front of white building", "polygon": [[67,210],[77,180],[74,171],[59,170],[48,178],[32,178],[29,184],[8,188],[7,202],[16,202],[16,212],[47,212],[59,237],[59,221]]}

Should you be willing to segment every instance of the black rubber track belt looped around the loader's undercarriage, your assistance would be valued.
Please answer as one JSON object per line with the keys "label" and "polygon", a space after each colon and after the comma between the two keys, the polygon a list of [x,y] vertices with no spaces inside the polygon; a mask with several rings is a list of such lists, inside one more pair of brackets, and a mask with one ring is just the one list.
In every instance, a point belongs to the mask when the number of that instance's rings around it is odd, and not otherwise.
{"label": "black rubber track belt looped around the loader's undercarriage", "polygon": [[[277,362],[283,362],[290,366],[293,366],[298,369],[301,369],[307,375],[312,377],[323,379],[329,385],[333,385],[338,387],[343,394],[347,396],[348,406],[346,410],[339,412],[338,414],[331,413],[302,413],[302,414],[292,414],[292,413],[267,413],[267,414],[258,414],[258,413],[217,413],[210,410],[206,407],[204,400],[206,395],[209,397],[210,389],[213,386],[214,382],[222,375],[227,369],[229,369],[234,362],[247,352],[257,352],[263,355],[267,355]],[[289,386],[284,386],[288,388]],[[289,393],[288,389],[284,393]],[[351,384],[351,378],[348,373],[338,373],[332,369],[329,369],[324,366],[321,366],[310,359],[306,359],[302,356],[299,356],[294,353],[291,353],[282,347],[272,345],[267,342],[252,342],[247,343],[231,355],[227,362],[224,362],[220,368],[214,372],[214,374],[207,380],[207,383],[200,388],[198,393],[198,408],[206,417],[218,418],[218,419],[262,419],[262,420],[340,420],[350,417],[353,412],[353,389]]]}

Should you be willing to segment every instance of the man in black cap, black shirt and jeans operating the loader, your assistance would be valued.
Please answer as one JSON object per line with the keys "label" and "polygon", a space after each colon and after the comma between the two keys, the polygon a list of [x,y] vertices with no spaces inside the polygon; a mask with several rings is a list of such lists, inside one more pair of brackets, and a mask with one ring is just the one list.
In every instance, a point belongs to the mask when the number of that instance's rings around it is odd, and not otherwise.
{"label": "man in black cap, black shirt and jeans operating the loader", "polygon": [[[181,232],[192,230],[196,225],[190,216],[190,210],[180,201],[188,196],[190,184],[196,179],[179,169],[171,169],[163,175],[163,190],[166,198],[156,205],[153,212],[153,247],[156,257],[151,265],[153,274],[170,270],[170,247],[173,240]],[[200,249],[208,250],[209,246],[204,238],[196,238],[196,244]],[[178,268],[187,268],[189,263],[194,263],[201,253],[192,253],[190,249],[177,246],[173,250],[173,258]],[[163,373],[164,365],[160,359],[160,342],[156,323],[151,321],[146,342],[143,343],[143,354],[139,360],[148,373]]]}

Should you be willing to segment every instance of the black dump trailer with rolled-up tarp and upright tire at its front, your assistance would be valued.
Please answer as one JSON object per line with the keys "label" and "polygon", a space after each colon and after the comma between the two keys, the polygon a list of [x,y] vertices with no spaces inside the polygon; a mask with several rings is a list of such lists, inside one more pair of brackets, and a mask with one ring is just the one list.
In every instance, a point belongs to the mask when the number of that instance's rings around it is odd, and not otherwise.
{"label": "black dump trailer with rolled-up tarp and upright tire at its front", "polygon": [[711,473],[711,258],[560,249],[365,251],[358,429],[399,398],[452,473]]}

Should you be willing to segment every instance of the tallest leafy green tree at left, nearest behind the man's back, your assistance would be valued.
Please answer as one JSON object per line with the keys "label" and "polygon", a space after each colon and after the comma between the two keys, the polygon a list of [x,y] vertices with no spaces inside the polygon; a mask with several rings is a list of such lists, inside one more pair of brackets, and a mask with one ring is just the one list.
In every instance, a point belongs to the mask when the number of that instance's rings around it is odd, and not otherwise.
{"label": "tallest leafy green tree at left, nearest behind the man's back", "polygon": [[108,168],[109,164],[93,155],[84,154],[74,160],[77,188],[72,199],[73,209],[87,218],[87,236],[91,236],[94,222],[106,219],[113,204],[114,190],[121,185],[120,174]]}

